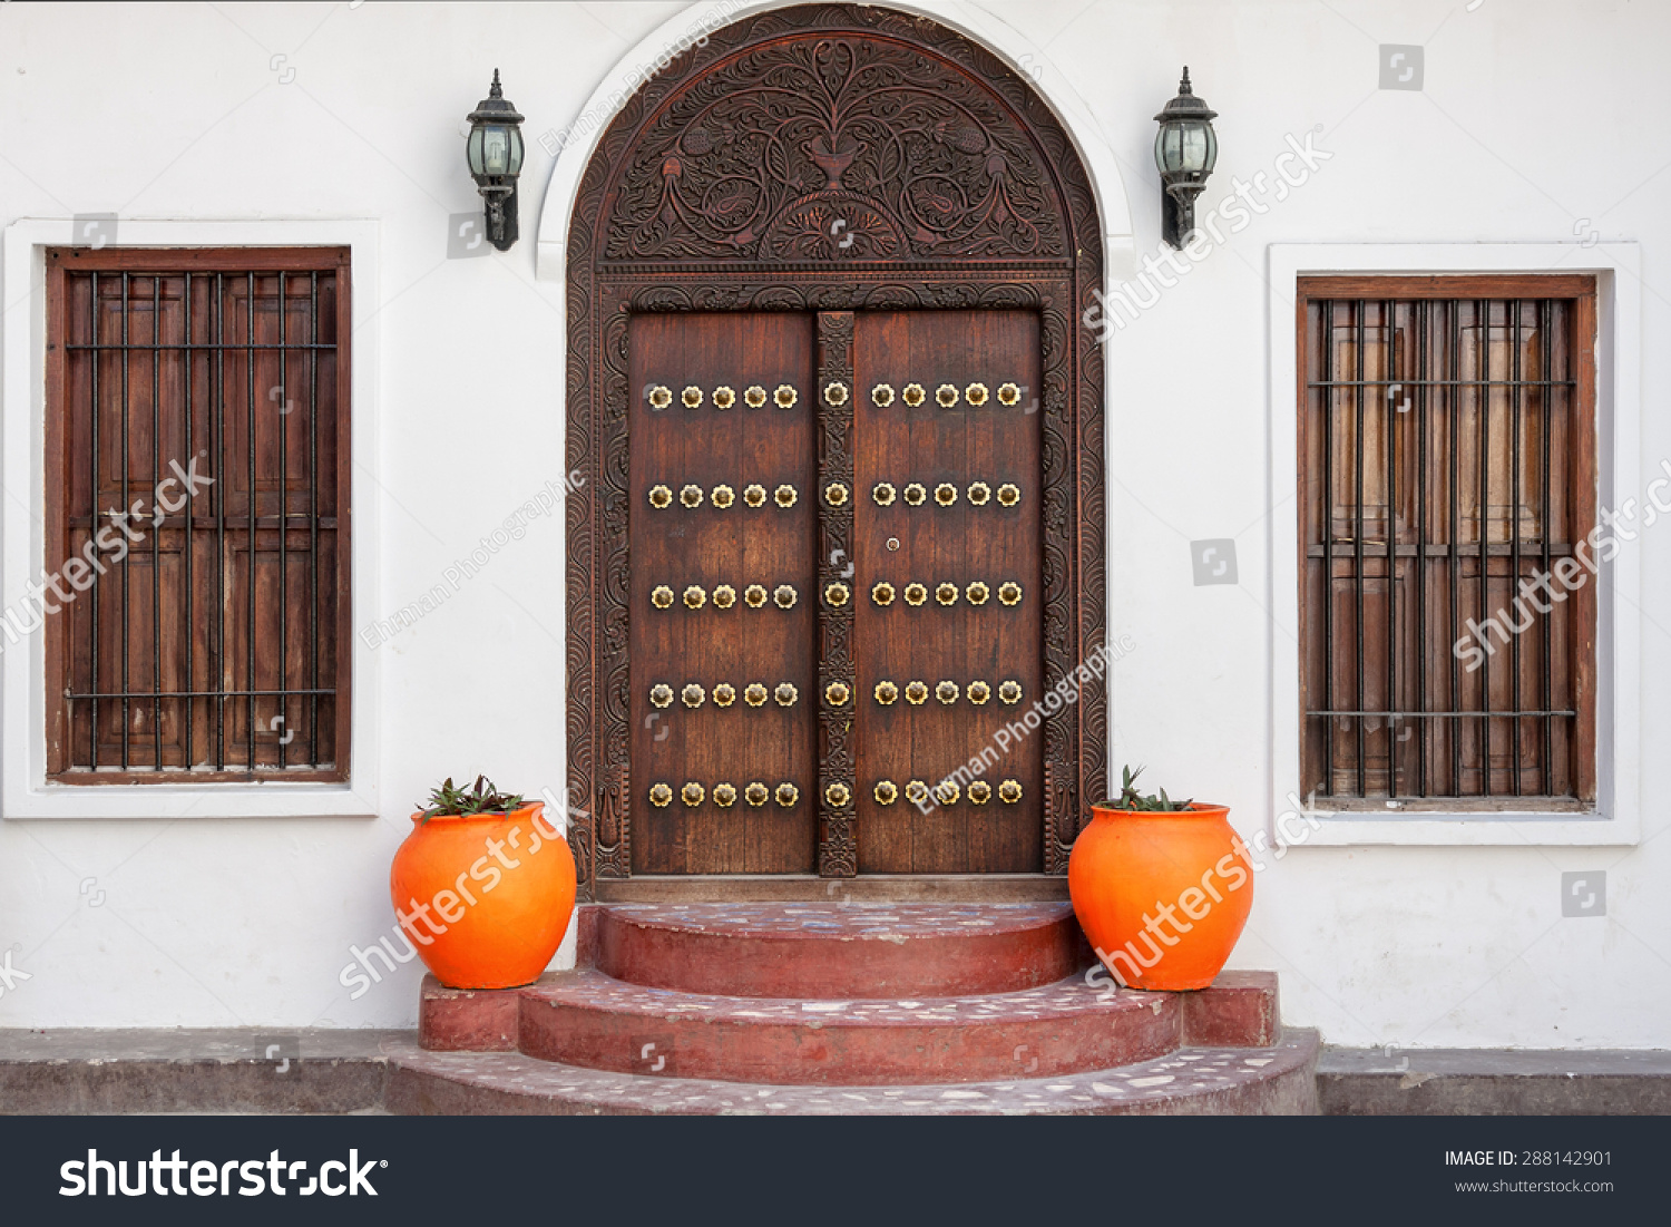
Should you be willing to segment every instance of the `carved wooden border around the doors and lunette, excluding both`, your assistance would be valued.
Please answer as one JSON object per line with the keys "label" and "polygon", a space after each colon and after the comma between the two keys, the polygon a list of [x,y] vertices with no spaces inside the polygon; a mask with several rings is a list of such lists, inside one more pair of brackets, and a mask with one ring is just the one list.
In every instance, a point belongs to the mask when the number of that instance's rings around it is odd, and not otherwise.
{"label": "carved wooden border around the doors and lunette, excluding both", "polygon": [[[643,129],[680,90],[762,43],[827,35],[912,42],[947,72],[1003,97],[1043,150],[1071,229],[1069,261],[735,262],[607,266],[608,214]],[[582,898],[632,874],[627,595],[627,324],[638,311],[1033,309],[1043,338],[1044,682],[1063,684],[1105,642],[1103,356],[1078,328],[1101,286],[1096,202],[1059,120],[996,57],[927,18],[886,8],[779,8],[709,35],[657,74],[603,134],[582,177],[568,246],[568,781]],[[1106,792],[1108,702],[1101,675],[1044,720],[1044,873],[1063,874],[1088,802]]]}

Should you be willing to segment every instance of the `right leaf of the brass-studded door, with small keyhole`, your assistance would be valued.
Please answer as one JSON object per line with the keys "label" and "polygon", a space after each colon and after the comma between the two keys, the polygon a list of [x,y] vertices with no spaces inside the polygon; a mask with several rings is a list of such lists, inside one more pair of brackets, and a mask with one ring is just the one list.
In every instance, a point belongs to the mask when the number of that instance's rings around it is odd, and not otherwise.
{"label": "right leaf of the brass-studded door, with small keyhole", "polygon": [[[1039,321],[1026,311],[887,311],[864,313],[854,329],[854,560],[859,608],[859,869],[862,873],[1038,873],[1043,868],[1044,732],[1021,724],[1043,699],[1043,503]],[[986,403],[969,405],[971,384],[984,384]],[[1014,405],[999,403],[999,388],[1018,386]],[[886,384],[892,401],[877,405],[872,389]],[[924,401],[906,403],[907,384],[921,384]],[[951,408],[936,391],[956,391]],[[983,481],[984,505],[969,501]],[[882,507],[876,486],[894,498]],[[912,507],[907,486],[922,486]],[[1016,507],[1003,507],[998,490],[1014,483]],[[936,490],[951,488],[941,505]],[[887,548],[889,542],[899,547]],[[887,605],[872,597],[877,582],[894,590]],[[988,587],[984,603],[971,603],[969,585]],[[1003,583],[1016,582],[1021,600],[1004,605]],[[912,607],[906,587],[922,583],[927,597]],[[951,603],[936,597],[956,587]],[[1004,680],[1021,684],[1023,699],[998,699]],[[911,704],[876,699],[879,682],[901,692],[921,682],[929,697]],[[941,682],[957,687],[942,704]],[[991,689],[984,704],[969,700],[969,684]],[[1016,736],[999,746],[996,734]],[[974,767],[979,766],[979,771]],[[901,792],[912,779],[929,787],[951,779],[956,801],[912,806],[901,796],[881,804],[879,781]],[[1021,784],[1021,801],[998,797],[1004,779]],[[974,804],[969,784],[993,789]]]}

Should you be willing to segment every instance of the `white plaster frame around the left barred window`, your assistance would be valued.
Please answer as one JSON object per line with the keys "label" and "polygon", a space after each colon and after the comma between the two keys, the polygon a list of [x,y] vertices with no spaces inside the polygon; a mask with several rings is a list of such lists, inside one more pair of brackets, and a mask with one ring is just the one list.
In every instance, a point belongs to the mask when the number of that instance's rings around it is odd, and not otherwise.
{"label": "white plaster frame around the left barred window", "polygon": [[[0,510],[0,608],[23,597],[42,570],[47,415],[47,247],[72,242],[69,217],[23,219],[5,229],[0,252],[0,473],[10,498]],[[354,348],[349,373],[353,445],[353,608],[376,608],[378,580],[378,222],[374,221],[129,221],[122,247],[349,247]],[[25,501],[27,500],[27,501]],[[346,784],[52,784],[47,781],[45,635],[0,644],[0,817],[376,817],[378,670],[359,637],[354,652],[351,759]]]}

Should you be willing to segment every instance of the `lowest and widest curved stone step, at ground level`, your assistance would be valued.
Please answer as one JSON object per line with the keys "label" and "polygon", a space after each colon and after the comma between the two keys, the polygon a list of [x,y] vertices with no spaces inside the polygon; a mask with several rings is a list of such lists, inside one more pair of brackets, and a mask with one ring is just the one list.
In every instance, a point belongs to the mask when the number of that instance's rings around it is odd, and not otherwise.
{"label": "lowest and widest curved stone step, at ground level", "polygon": [[398,1115],[1313,1115],[1317,1031],[1270,1048],[1181,1048],[1059,1078],[934,1087],[764,1087],[582,1070],[523,1053],[389,1041]]}

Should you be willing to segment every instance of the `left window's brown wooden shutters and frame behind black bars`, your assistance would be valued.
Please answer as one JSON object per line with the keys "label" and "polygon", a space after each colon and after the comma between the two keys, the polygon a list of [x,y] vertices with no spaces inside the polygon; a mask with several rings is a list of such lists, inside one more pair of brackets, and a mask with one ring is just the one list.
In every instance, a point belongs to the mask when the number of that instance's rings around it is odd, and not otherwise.
{"label": "left window's brown wooden shutters and frame behind black bars", "polygon": [[341,777],[336,261],[70,272],[63,298],[65,557],[104,565],[58,647],[55,777]]}

